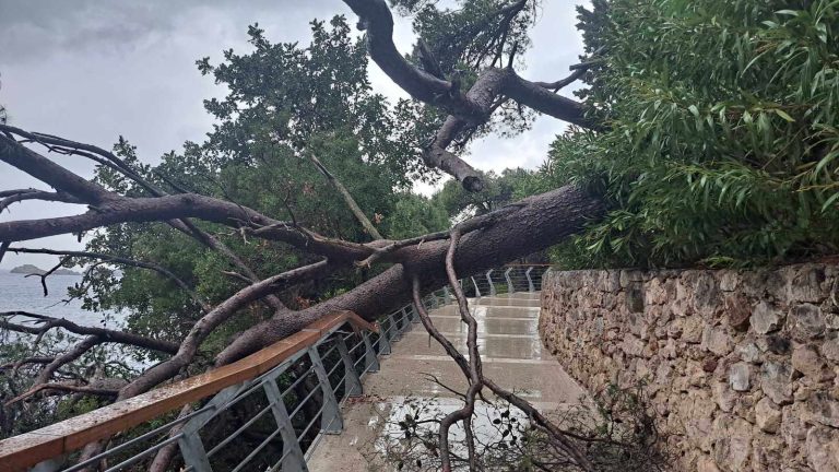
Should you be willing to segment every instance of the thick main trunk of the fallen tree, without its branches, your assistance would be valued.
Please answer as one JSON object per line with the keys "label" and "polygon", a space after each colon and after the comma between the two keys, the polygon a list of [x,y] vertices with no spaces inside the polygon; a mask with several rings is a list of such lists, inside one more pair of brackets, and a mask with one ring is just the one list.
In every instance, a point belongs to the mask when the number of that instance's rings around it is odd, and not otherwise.
{"label": "thick main trunk of the fallen tree, without its branches", "polygon": [[[515,206],[491,226],[463,236],[454,259],[459,274],[466,276],[555,245],[604,211],[599,196],[575,186],[527,198]],[[216,357],[216,364],[241,358],[338,310],[374,321],[411,299],[412,274],[418,275],[424,291],[439,288],[446,283],[448,246],[447,240],[435,240],[399,249],[393,256],[401,263],[343,295],[250,328]]]}

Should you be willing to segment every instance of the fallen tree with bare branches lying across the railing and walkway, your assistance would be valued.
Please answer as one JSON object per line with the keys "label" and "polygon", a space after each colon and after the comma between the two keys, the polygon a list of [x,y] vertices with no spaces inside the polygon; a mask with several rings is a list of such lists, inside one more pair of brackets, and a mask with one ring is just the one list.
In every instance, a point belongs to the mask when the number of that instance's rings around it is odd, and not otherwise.
{"label": "fallen tree with bare branches lying across the railing and walkway", "polygon": [[[559,88],[584,73],[584,64],[577,66],[568,78],[555,82],[531,82],[515,72],[512,66],[519,46],[510,39],[516,36],[511,31],[517,15],[533,7],[527,0],[494,2],[497,3],[497,10],[491,11],[482,20],[487,24],[498,23],[500,27],[493,30],[495,33],[489,36],[485,51],[473,57],[472,66],[475,68],[476,76],[468,91],[463,90],[464,84],[457,74],[445,76],[441,72],[447,70],[445,64],[441,68],[435,67],[436,59],[427,47],[421,47],[421,50],[425,50],[422,58],[423,68],[399,54],[392,42],[393,19],[383,0],[345,0],[345,3],[359,16],[359,26],[366,30],[366,45],[370,58],[394,83],[411,94],[414,99],[426,104],[429,110],[446,111],[447,115],[438,119],[439,127],[433,139],[422,150],[422,158],[429,167],[450,174],[468,190],[480,190],[483,187],[481,175],[448,148],[456,142],[462,148],[476,132],[488,126],[493,115],[498,110],[512,105],[513,109],[523,113],[522,107],[528,107],[578,127],[600,129],[598,123],[586,116],[582,104],[557,94]],[[422,40],[420,44],[423,45]],[[506,66],[503,64],[505,58]],[[432,73],[428,70],[436,72]],[[72,154],[90,158],[101,168],[106,168],[120,179],[132,182],[140,190],[120,192],[87,180],[36,152],[32,148],[35,144],[43,145],[56,154]],[[236,272],[232,275],[246,284],[226,299],[211,305],[192,293],[187,282],[172,275],[170,279],[190,294],[199,312],[197,318],[190,321],[187,334],[179,340],[176,352],[173,352],[170,344],[161,346],[159,343],[155,344],[154,340],[144,339],[139,334],[91,333],[84,340],[69,346],[64,355],[49,361],[28,363],[29,366],[46,364],[46,367],[40,370],[37,381],[28,391],[16,396],[10,402],[28,401],[37,393],[47,390],[54,394],[102,393],[107,398],[116,396],[117,400],[147,391],[188,371],[189,367],[197,363],[199,350],[209,335],[240,314],[243,309],[260,300],[272,308],[271,318],[238,334],[216,356],[214,361],[216,365],[241,358],[338,310],[350,310],[365,319],[375,320],[381,314],[416,298],[418,294],[450,282],[453,273],[465,276],[550,247],[580,232],[588,221],[601,216],[605,210],[598,194],[590,193],[580,187],[566,186],[468,220],[457,225],[453,233],[446,231],[400,240],[377,238],[369,243],[357,243],[324,236],[307,228],[295,220],[291,210],[291,220],[280,220],[235,201],[187,191],[170,180],[166,181],[170,184],[169,187],[174,188],[174,191],[165,191],[144,176],[134,164],[114,153],[94,145],[25,131],[7,125],[0,126],[0,162],[28,174],[55,190],[3,191],[0,208],[7,208],[23,200],[62,201],[87,206],[86,212],[72,216],[12,220],[0,223],[0,241],[2,241],[0,260],[8,251],[38,251],[20,246],[12,247],[13,243],[20,244],[59,234],[78,234],[81,237],[87,232],[114,225],[159,222],[218,252],[236,268]],[[317,160],[315,163],[319,164]],[[356,220],[365,227],[371,227],[369,220],[363,214],[346,188],[331,173],[324,170],[326,167],[319,165],[318,168],[341,192],[342,198],[352,208]],[[257,272],[243,258],[221,241],[218,234],[211,234],[201,228],[204,222],[227,227],[243,239],[287,244],[308,255],[309,263],[260,280]],[[378,236],[377,232],[370,233],[376,233]],[[452,235],[456,236],[452,237]],[[128,264],[166,276],[172,274],[166,268],[153,261],[138,261],[119,255],[92,251],[50,250],[64,257],[98,260],[96,263]],[[40,251],[45,252],[45,250]],[[447,253],[449,255],[448,272]],[[390,267],[346,293],[314,306],[292,310],[280,300],[280,295],[294,285],[322,279],[347,268],[370,268],[382,264]],[[468,321],[468,311],[463,317],[464,321]],[[67,322],[45,321],[47,323],[45,328],[64,328],[73,332],[86,332]],[[5,326],[16,327],[10,322]],[[32,332],[26,329],[17,329],[17,331]],[[66,381],[52,381],[52,375],[62,366],[78,359],[93,346],[108,342],[130,342],[134,346],[149,346],[164,351],[170,356],[164,355],[158,364],[121,386],[118,391],[113,389],[94,391],[94,389],[81,388]],[[464,374],[469,375],[469,373]],[[474,373],[471,377],[475,377]],[[473,381],[476,379],[477,377],[472,378]],[[471,393],[472,400],[484,386],[496,390],[492,387],[494,384],[491,380],[482,378],[475,391]],[[497,391],[496,393],[509,396],[506,392]],[[510,398],[518,401],[513,397]],[[459,421],[466,418],[469,416],[466,413],[471,414],[471,411],[466,411]],[[545,427],[548,426],[545,424]],[[101,448],[101,445],[91,445],[85,450],[85,456],[91,457]],[[577,459],[581,467],[590,469],[586,467],[583,457],[579,456]],[[166,461],[163,462],[165,467]]]}

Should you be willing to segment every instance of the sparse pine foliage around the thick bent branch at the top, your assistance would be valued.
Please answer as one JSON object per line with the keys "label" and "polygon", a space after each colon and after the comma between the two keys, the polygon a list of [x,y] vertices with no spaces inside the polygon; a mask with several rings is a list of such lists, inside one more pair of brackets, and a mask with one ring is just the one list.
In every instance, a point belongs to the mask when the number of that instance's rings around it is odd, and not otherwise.
{"label": "sparse pine foliage around the thick bent branch at the top", "polygon": [[[530,28],[535,24],[540,1],[391,0],[390,3],[398,13],[411,16],[418,40],[427,46],[432,56],[425,57],[420,49],[414,49],[409,60],[468,91],[487,68],[523,66],[523,52],[531,46]],[[429,62],[435,66],[430,67]],[[411,126],[395,131],[417,151],[425,149],[448,115],[438,107],[411,101],[400,101],[397,114],[401,122]],[[504,101],[486,123],[458,132],[449,150],[462,152],[471,140],[491,133],[513,137],[529,129],[534,117],[530,108]],[[427,174],[414,177],[429,180]]]}

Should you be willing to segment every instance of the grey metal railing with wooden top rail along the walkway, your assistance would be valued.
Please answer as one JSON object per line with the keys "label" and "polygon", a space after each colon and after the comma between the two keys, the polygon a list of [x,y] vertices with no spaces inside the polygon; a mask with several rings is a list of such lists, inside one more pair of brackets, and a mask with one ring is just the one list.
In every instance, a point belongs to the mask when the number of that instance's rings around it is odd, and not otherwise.
{"label": "grey metal railing with wooden top rail along the walkway", "polygon": [[[461,286],[476,297],[534,292],[546,269],[494,269],[461,280]],[[427,309],[452,302],[448,286],[423,298]],[[391,344],[418,322],[411,305],[380,318],[378,330],[347,312],[318,320],[204,375],[210,381],[193,377],[0,441],[0,469],[24,471],[35,464],[31,470],[37,472],[145,470],[157,451],[177,445],[174,470],[307,471],[308,452],[319,438],[343,429],[342,402],[363,393],[362,379],[379,370],[379,356],[390,354]],[[268,367],[255,371],[255,358]],[[224,380],[213,380],[225,369]],[[208,387],[212,381],[214,387]],[[79,448],[114,434],[104,452],[80,461]]]}

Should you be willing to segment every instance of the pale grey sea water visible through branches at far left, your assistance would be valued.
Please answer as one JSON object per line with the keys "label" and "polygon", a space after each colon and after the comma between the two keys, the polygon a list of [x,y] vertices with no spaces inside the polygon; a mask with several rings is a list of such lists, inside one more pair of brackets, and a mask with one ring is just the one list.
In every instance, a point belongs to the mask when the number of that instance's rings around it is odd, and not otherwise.
{"label": "pale grey sea water visible through branches at far left", "polygon": [[117,317],[106,317],[104,314],[87,311],[82,308],[80,300],[64,303],[68,298],[67,288],[80,282],[81,276],[50,275],[47,278],[49,295],[44,296],[40,278],[24,278],[24,274],[13,274],[7,271],[0,272],[0,311],[23,310],[38,315],[47,315],[56,318],[67,318],[79,324],[103,326],[106,320],[109,328],[119,324]]}

